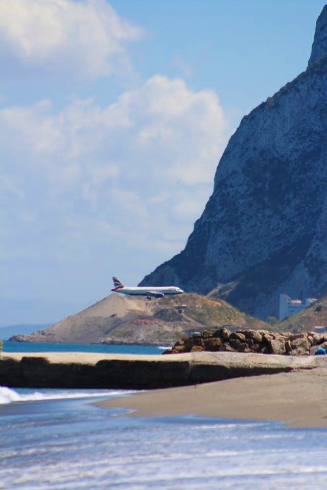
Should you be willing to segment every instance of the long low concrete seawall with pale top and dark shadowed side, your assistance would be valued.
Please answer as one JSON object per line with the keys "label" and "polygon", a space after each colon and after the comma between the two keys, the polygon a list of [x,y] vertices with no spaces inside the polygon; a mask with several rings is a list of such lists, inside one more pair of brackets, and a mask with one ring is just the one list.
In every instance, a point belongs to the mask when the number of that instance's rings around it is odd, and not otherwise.
{"label": "long low concrete seawall with pale top and dark shadowed side", "polygon": [[173,356],[84,352],[6,353],[0,385],[33,388],[152,389],[275,374],[326,365],[324,356],[196,352]]}

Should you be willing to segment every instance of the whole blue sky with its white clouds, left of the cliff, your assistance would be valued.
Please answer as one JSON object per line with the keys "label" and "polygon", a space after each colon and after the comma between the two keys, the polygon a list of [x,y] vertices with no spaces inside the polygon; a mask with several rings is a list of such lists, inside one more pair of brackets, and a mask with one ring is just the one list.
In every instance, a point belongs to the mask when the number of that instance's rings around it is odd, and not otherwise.
{"label": "whole blue sky with its white clouds, left of the cliff", "polygon": [[0,0],[0,327],[59,321],[183,250],[324,4]]}

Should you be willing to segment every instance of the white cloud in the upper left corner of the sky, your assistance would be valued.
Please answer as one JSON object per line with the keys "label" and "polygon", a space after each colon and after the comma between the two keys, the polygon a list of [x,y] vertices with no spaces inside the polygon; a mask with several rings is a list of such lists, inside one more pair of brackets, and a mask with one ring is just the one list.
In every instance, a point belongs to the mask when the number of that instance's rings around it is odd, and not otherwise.
{"label": "white cloud in the upper left corner of the sky", "polygon": [[143,34],[105,0],[0,0],[0,60],[9,71],[123,74],[126,44]]}

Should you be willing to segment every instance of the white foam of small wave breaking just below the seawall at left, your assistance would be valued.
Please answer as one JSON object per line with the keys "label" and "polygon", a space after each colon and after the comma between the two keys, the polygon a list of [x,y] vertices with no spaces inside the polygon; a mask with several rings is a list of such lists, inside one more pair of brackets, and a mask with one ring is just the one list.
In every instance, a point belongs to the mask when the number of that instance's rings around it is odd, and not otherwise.
{"label": "white foam of small wave breaking just below the seawall at left", "polygon": [[73,389],[46,389],[44,391],[31,391],[30,393],[17,393],[7,386],[0,386],[0,405],[12,402],[26,402],[37,400],[58,400],[64,398],[99,398],[133,393],[126,390],[73,390]]}

